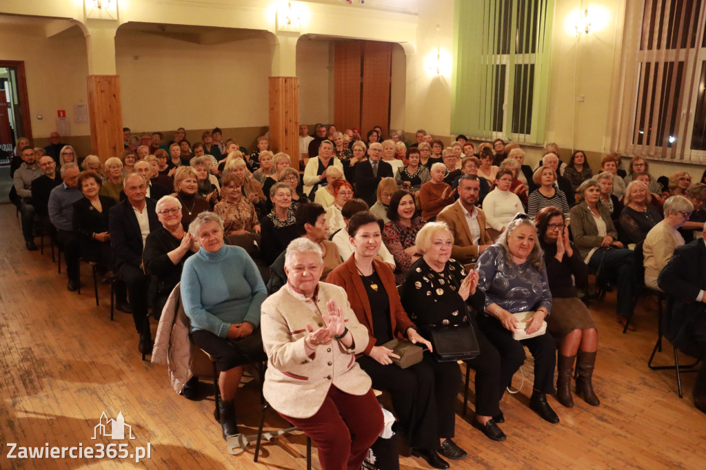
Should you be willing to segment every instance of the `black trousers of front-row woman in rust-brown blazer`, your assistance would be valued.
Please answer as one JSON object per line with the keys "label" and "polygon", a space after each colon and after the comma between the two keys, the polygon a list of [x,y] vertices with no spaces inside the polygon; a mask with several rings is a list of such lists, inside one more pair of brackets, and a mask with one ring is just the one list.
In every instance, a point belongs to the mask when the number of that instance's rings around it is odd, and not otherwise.
{"label": "black trousers of front-row woman in rust-brown blazer", "polygon": [[438,362],[426,352],[424,360],[406,369],[383,366],[369,356],[357,361],[373,379],[374,389],[390,393],[400,433],[409,447],[436,449],[439,438],[453,438],[461,386],[457,363]]}

